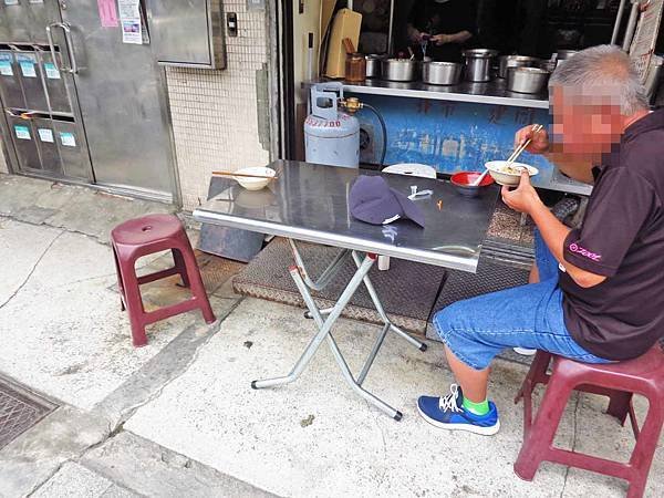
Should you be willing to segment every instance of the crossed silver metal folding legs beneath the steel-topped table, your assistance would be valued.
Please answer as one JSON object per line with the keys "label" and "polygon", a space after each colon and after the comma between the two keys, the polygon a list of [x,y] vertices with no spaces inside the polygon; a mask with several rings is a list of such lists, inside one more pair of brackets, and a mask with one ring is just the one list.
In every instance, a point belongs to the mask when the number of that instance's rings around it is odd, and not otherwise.
{"label": "crossed silver metal folding legs beneath the steel-topped table", "polygon": [[[378,299],[378,294],[376,293],[376,290],[373,287],[371,279],[369,278],[369,271],[376,261],[377,256],[369,252],[362,258],[360,253],[355,250],[342,249],[336,255],[334,260],[328,266],[328,268],[321,273],[319,279],[317,281],[313,281],[309,276],[309,272],[307,271],[304,261],[302,260],[302,256],[298,249],[295,241],[293,239],[288,239],[288,241],[290,243],[290,247],[293,252],[293,258],[295,260],[295,264],[289,268],[290,274],[294,280],[295,286],[298,287],[300,294],[302,294],[302,299],[304,300],[307,308],[309,309],[309,311],[305,313],[305,317],[313,319],[319,331],[313,336],[313,339],[311,340],[311,342],[309,343],[309,345],[307,346],[307,349],[304,350],[304,352],[302,353],[302,355],[300,356],[300,359],[288,375],[276,378],[267,378],[262,381],[253,381],[251,383],[251,387],[255,390],[259,390],[263,387],[271,387],[274,385],[289,384],[291,382],[294,382],[302,374],[302,372],[304,371],[304,369],[307,367],[307,365],[309,364],[320,345],[323,343],[323,341],[326,340],[328,345],[330,346],[330,350],[332,351],[332,354],[334,356],[334,360],[341,369],[343,377],[353,388],[353,391],[355,391],[360,396],[362,396],[370,403],[381,408],[395,421],[401,421],[403,415],[400,411],[393,408],[392,406],[390,406],[388,404],[386,404],[385,402],[366,391],[362,386],[362,384],[364,383],[366,375],[369,374],[369,371],[373,365],[373,362],[376,355],[378,354],[381,346],[383,345],[383,341],[385,340],[387,332],[394,332],[396,335],[405,339],[407,342],[409,342],[421,351],[426,351],[426,344],[412,338],[409,334],[407,334],[394,323],[392,323],[392,321],[385,313],[385,309],[383,308],[383,304]],[[341,267],[347,261],[349,256],[352,257],[355,266],[357,267],[357,270],[355,271],[355,273],[346,284],[345,289],[339,297],[339,300],[332,308],[318,308],[313,297],[311,295],[311,290],[320,291],[324,289],[332,281],[334,276],[338,274]],[[344,308],[349,304],[351,298],[355,294],[360,286],[363,283],[371,297],[371,300],[373,301],[375,310],[381,315],[381,319],[383,320],[384,324],[373,344],[371,352],[369,353],[366,361],[364,362],[364,366],[362,367],[360,375],[357,375],[357,377],[355,378],[343,354],[341,353],[336,341],[332,335],[332,326],[341,315]]]}

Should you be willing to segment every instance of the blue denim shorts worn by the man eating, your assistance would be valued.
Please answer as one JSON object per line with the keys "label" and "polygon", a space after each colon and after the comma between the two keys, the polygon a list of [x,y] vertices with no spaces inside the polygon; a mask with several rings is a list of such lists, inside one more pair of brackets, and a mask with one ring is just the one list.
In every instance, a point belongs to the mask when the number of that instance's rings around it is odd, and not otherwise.
{"label": "blue denim shorts worn by the man eating", "polygon": [[434,315],[440,339],[460,361],[484,370],[508,347],[527,347],[585,363],[610,363],[581,347],[564,324],[558,261],[536,231],[540,283],[458,301]]}

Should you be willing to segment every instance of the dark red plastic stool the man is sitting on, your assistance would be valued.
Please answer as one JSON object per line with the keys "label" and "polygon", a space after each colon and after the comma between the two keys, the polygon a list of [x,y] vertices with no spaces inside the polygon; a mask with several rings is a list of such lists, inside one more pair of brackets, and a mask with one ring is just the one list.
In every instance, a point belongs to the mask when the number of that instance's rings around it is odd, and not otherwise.
{"label": "dark red plastic stool the man is sitting on", "polygon": [[[553,366],[549,375],[547,369],[551,357]],[[537,384],[548,386],[535,422],[531,422],[532,390]],[[609,396],[608,413],[622,424],[630,415],[636,445],[629,463],[553,446],[560,417],[572,391]],[[632,406],[633,394],[641,394],[649,400],[647,416],[641,429]],[[625,479],[630,483],[627,497],[643,496],[664,424],[664,354],[658,344],[635,360],[604,365],[579,363],[538,351],[515,403],[521,398],[523,445],[515,464],[515,473],[520,478],[532,480],[540,463],[547,460]]]}

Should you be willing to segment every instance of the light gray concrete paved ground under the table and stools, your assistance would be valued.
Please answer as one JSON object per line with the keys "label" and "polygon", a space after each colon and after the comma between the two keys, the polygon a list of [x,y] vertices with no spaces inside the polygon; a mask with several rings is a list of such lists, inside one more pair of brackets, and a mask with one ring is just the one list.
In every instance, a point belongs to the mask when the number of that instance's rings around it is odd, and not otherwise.
{"label": "light gray concrete paved ground under the table and stools", "polygon": [[[418,394],[440,393],[452,380],[438,344],[423,354],[391,338],[367,378],[404,412],[401,423],[350,392],[325,347],[297,384],[252,391],[251,380],[289,371],[312,324],[299,309],[240,299],[228,279],[208,282],[217,323],[178,317],[152,326],[148,346],[132,347],[107,232],[168,210],[0,176],[0,374],[60,404],[0,450],[0,497],[624,496],[622,481],[553,465],[533,483],[516,478],[519,365],[497,364],[491,392],[502,429],[483,438],[435,429],[414,409]],[[170,279],[146,288],[146,304],[185,293]],[[351,366],[376,332],[341,322]],[[630,432],[602,407],[594,396],[574,397],[559,444],[626,458]],[[647,496],[664,496],[663,471],[660,448]]]}

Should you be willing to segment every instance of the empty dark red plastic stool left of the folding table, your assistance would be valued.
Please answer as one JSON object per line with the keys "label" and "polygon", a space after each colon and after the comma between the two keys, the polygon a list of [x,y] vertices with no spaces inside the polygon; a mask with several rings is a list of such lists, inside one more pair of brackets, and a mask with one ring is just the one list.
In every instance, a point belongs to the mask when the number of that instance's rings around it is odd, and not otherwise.
{"label": "empty dark red plastic stool left of the folding table", "polygon": [[[210,308],[194,250],[180,220],[173,215],[148,215],[118,225],[111,232],[121,305],[129,313],[132,339],[135,346],[147,344],[145,325],[179,313],[199,309],[207,323],[215,314]],[[168,250],[173,252],[175,266],[156,273],[136,277],[136,260],[143,256]],[[141,299],[142,283],[154,282],[178,274],[185,287],[190,288],[191,299],[146,312]]]}

